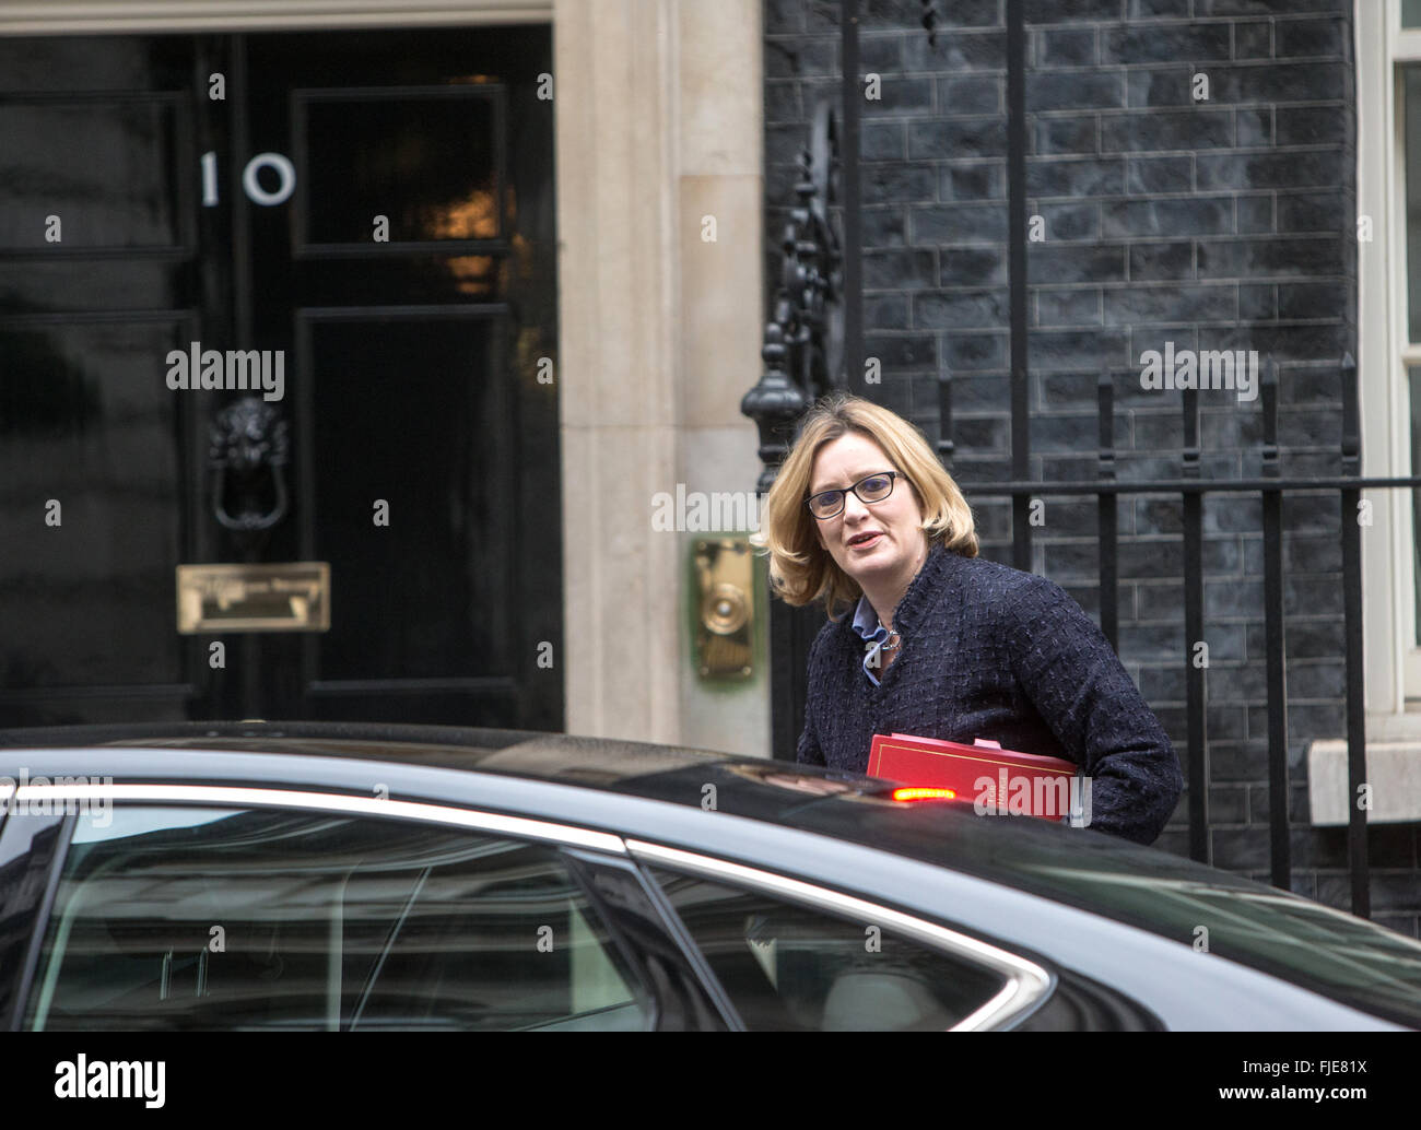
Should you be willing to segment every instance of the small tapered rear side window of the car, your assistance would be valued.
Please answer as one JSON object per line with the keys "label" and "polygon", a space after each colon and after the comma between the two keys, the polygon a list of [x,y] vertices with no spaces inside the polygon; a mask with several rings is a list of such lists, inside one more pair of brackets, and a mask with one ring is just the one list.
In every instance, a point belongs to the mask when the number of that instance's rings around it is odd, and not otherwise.
{"label": "small tapered rear side window of the car", "polygon": [[944,1031],[1006,984],[870,920],[651,873],[750,1031]]}

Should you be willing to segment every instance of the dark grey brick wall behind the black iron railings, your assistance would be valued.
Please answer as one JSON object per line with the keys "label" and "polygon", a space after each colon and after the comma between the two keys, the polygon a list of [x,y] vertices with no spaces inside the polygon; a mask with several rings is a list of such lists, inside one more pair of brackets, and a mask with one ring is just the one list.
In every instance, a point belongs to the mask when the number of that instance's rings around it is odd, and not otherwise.
{"label": "dark grey brick wall behind the black iron railings", "polygon": [[[864,0],[865,353],[880,402],[939,434],[983,551],[1010,560],[1006,31],[1002,0]],[[1027,0],[1032,476],[1094,478],[1096,381],[1114,377],[1121,478],[1175,476],[1178,392],[1140,355],[1258,350],[1280,365],[1283,473],[1339,473],[1339,358],[1356,355],[1351,4],[1346,0]],[[766,0],[767,280],[794,161],[838,95],[837,0]],[[1196,101],[1195,75],[1208,80]],[[769,303],[769,296],[766,296]],[[766,306],[769,308],[769,306]],[[1262,399],[1201,392],[1206,478],[1259,473]],[[1181,503],[1120,506],[1121,658],[1185,753]],[[1285,505],[1293,887],[1346,908],[1346,830],[1307,826],[1306,743],[1344,735],[1336,493]],[[1205,503],[1211,834],[1221,867],[1268,878],[1263,561],[1258,499]],[[1047,499],[1033,569],[1098,615],[1094,497]],[[1160,846],[1188,853],[1185,803]],[[1417,824],[1370,832],[1373,917],[1421,935]]]}

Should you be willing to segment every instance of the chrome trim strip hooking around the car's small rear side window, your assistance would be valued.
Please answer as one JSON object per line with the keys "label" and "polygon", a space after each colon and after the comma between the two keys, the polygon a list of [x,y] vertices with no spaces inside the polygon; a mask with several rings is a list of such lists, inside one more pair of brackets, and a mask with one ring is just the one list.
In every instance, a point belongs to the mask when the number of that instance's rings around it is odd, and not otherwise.
{"label": "chrome trim strip hooking around the car's small rear side window", "polygon": [[1006,976],[1006,985],[982,1005],[952,1026],[952,1032],[980,1032],[1019,1016],[1034,1005],[1052,985],[1052,975],[1034,962],[1026,961],[1006,949],[988,945],[966,934],[936,925],[935,922],[914,918],[877,903],[854,898],[797,878],[762,871],[756,867],[746,867],[739,863],[728,863],[710,856],[699,856],[692,851],[681,851],[675,847],[647,843],[645,840],[627,840],[627,847],[634,857],[665,863],[674,867],[685,867],[716,878],[728,878],[736,883],[747,883],[762,887],[773,894],[797,898],[827,911],[848,914],[870,922],[882,922],[885,927],[908,934],[928,945],[948,949],[949,952],[989,965],[996,972]]}

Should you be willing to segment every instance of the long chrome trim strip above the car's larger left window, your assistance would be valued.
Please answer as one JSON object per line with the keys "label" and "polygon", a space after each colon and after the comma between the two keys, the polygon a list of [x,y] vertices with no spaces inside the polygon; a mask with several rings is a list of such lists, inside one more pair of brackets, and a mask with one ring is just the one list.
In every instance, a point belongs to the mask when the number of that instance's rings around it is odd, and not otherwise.
{"label": "long chrome trim strip above the car's larger left window", "polygon": [[307,793],[297,789],[250,789],[219,785],[26,785],[16,789],[16,803],[18,805],[43,797],[54,800],[108,797],[125,802],[161,800],[176,805],[247,805],[310,812],[345,812],[399,820],[428,820],[476,832],[497,832],[509,836],[526,836],[533,840],[576,844],[617,856],[627,854],[621,837],[605,832],[590,832],[568,824],[533,820],[526,816],[503,816],[418,800],[381,800],[344,793]]}

